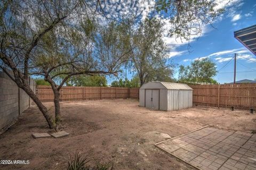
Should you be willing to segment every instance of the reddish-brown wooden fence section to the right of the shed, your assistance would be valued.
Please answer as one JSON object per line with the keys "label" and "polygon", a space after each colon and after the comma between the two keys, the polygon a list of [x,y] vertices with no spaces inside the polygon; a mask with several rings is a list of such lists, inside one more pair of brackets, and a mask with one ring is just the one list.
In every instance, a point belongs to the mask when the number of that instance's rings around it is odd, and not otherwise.
{"label": "reddish-brown wooden fence section to the right of the shed", "polygon": [[256,109],[256,83],[190,85],[193,104],[237,109]]}

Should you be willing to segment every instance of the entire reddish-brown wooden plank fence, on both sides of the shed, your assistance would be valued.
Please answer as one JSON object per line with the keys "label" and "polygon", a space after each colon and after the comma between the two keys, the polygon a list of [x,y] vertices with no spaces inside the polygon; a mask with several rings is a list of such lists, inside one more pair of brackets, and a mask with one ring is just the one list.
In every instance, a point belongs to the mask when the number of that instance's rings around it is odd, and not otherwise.
{"label": "entire reddish-brown wooden plank fence, on both sides of the shed", "polygon": [[[193,104],[202,106],[233,106],[237,109],[256,109],[256,83],[190,85],[193,88]],[[52,101],[51,86],[37,86],[37,96],[42,101]],[[139,88],[121,87],[62,87],[61,101],[135,98]]]}

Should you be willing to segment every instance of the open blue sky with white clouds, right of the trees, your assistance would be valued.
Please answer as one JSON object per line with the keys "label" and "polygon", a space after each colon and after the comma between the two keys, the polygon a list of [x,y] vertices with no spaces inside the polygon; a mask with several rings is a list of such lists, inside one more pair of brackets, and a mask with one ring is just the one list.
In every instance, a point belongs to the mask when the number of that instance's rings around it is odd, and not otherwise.
{"label": "open blue sky with white clouds, right of the trees", "polygon": [[[226,9],[218,21],[213,23],[216,29],[205,25],[202,35],[199,38],[196,36],[190,41],[190,52],[188,52],[188,42],[181,43],[175,38],[166,36],[166,44],[171,49],[168,60],[172,60],[175,64],[189,65],[194,60],[210,57],[219,70],[235,53],[238,53],[249,60],[237,57],[236,80],[256,79],[256,56],[234,38],[234,31],[256,24],[256,1],[218,0],[216,2],[218,7]],[[167,19],[163,20],[166,21],[165,28],[167,29],[170,25],[168,25]],[[178,78],[178,67],[175,71],[174,78]],[[232,82],[233,72],[234,60],[223,67],[214,79],[220,83]],[[127,70],[127,78],[130,79],[133,75],[134,73]],[[115,78],[108,78],[108,84],[113,80]]]}

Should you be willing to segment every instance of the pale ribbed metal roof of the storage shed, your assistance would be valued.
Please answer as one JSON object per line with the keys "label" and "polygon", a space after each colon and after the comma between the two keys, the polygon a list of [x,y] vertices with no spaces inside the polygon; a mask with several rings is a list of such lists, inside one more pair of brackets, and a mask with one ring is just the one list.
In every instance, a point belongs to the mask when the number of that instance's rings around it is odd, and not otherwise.
{"label": "pale ribbed metal roof of the storage shed", "polygon": [[172,89],[172,90],[193,90],[187,84],[171,83],[162,81],[150,81],[143,84],[140,89]]}

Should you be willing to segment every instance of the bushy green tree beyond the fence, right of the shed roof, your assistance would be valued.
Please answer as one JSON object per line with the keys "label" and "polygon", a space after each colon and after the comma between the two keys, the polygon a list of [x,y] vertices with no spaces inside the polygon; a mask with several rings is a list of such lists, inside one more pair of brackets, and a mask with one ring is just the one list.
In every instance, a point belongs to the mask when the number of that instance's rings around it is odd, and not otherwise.
{"label": "bushy green tree beyond the fence, right of the shed roof", "polygon": [[213,77],[217,74],[216,65],[210,58],[195,60],[189,66],[180,65],[179,81],[217,83]]}

